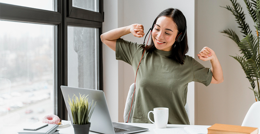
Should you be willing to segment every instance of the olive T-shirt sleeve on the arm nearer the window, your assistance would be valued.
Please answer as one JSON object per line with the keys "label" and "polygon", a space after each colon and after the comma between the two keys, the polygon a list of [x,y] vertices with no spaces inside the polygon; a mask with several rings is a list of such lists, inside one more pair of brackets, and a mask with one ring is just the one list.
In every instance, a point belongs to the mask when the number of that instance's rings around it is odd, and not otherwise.
{"label": "olive T-shirt sleeve on the arm nearer the window", "polygon": [[142,45],[136,42],[126,41],[124,39],[116,40],[116,59],[125,61],[132,65],[133,57],[138,49],[142,49]]}

